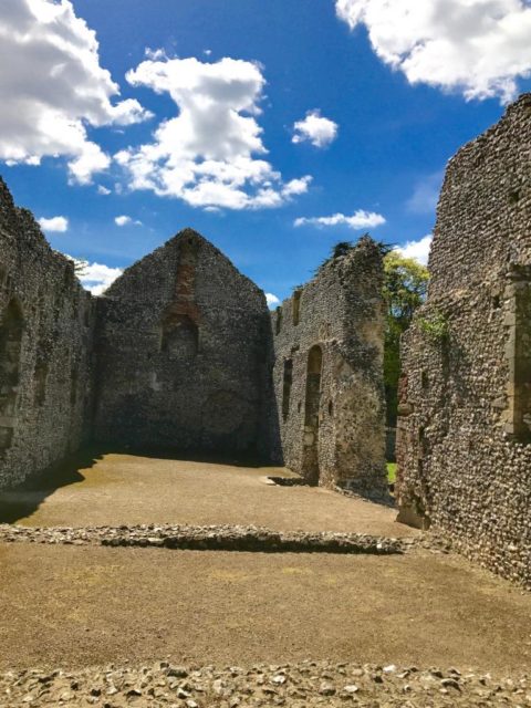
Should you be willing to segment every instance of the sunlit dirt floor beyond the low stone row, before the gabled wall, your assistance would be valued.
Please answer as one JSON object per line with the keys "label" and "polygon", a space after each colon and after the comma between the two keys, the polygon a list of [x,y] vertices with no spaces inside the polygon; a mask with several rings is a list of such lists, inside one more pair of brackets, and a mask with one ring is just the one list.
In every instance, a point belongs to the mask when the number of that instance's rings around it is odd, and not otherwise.
{"label": "sunlit dirt floor beyond the low stone row, before the gabled wall", "polygon": [[268,485],[284,468],[110,454],[32,488],[0,493],[0,522],[24,525],[256,524],[278,531],[405,537],[396,511],[315,487]]}

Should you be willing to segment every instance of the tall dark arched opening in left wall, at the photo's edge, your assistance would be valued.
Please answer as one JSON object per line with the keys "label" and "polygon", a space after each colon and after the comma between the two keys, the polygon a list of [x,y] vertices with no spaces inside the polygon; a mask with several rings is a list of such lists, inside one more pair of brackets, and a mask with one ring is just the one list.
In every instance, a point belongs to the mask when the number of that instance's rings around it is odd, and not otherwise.
{"label": "tall dark arched opening in left wall, at the photo's edge", "polygon": [[22,310],[12,300],[0,322],[0,455],[13,437],[23,329]]}

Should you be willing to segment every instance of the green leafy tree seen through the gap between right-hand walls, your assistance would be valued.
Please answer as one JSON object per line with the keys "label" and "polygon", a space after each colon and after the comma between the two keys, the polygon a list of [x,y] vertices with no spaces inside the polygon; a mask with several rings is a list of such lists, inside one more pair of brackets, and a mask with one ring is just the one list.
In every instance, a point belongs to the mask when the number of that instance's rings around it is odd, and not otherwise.
{"label": "green leafy tree seen through the gap between right-hand walls", "polygon": [[384,348],[384,384],[387,425],[396,425],[398,377],[400,375],[400,336],[413,315],[426,299],[428,269],[414,258],[404,258],[396,250],[384,258],[384,300],[387,310]]}

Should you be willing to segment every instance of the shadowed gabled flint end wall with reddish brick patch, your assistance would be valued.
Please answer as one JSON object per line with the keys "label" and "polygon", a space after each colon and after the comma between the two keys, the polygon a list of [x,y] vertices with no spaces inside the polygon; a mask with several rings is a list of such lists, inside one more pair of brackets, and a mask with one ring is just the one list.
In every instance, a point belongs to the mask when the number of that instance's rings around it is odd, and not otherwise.
{"label": "shadowed gabled flint end wall with reddish brick patch", "polygon": [[100,299],[96,439],[257,449],[267,324],[262,291],[198,233],[181,231]]}

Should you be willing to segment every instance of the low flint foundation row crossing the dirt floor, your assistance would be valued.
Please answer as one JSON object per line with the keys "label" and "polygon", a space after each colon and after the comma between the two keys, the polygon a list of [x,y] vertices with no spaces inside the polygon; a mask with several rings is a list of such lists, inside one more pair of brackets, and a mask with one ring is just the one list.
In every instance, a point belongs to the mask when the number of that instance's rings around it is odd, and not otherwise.
{"label": "low flint foundation row crossing the dirt floor", "polygon": [[409,539],[392,539],[358,533],[278,532],[262,527],[241,525],[121,525],[31,528],[0,524],[0,542],[96,544],[188,549],[192,551],[254,551],[290,553],[403,553],[414,545]]}

